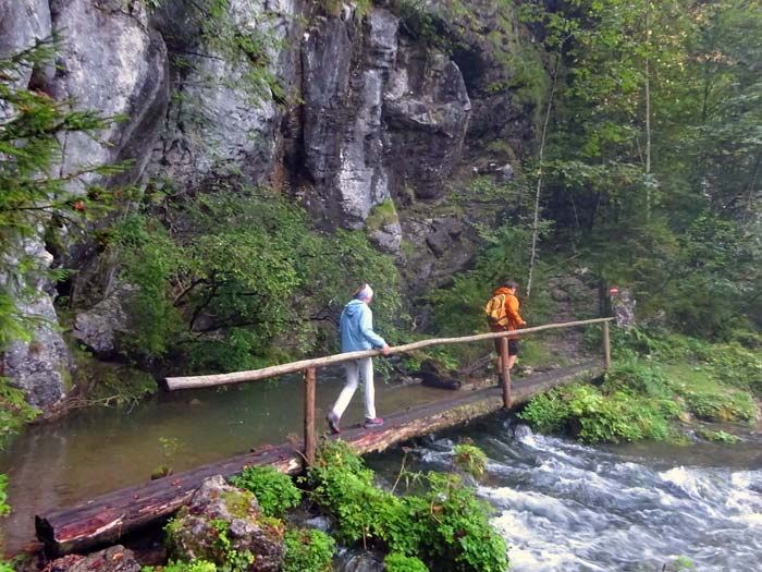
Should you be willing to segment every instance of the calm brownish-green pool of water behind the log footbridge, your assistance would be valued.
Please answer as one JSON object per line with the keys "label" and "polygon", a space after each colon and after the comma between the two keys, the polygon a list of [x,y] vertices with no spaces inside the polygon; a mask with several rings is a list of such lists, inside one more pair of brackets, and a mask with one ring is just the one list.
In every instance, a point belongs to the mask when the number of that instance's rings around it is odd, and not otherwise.
{"label": "calm brownish-green pool of water behind the log footbridge", "polygon": [[[319,431],[337,397],[340,369],[318,372],[316,419]],[[379,415],[447,397],[418,384],[376,382]],[[9,476],[11,516],[0,522],[5,551],[34,539],[35,514],[145,483],[162,464],[174,473],[281,445],[303,436],[304,382],[242,384],[222,389],[163,392],[133,409],[93,407],[57,423],[30,427],[0,451],[0,474]],[[342,424],[362,421],[361,389]]]}

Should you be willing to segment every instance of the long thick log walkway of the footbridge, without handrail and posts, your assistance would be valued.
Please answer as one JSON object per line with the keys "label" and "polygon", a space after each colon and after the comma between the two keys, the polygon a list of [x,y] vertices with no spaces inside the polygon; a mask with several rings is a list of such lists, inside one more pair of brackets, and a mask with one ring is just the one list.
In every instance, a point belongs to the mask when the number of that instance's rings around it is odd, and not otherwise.
{"label": "long thick log walkway of the footbridge, without handrail and posts", "polygon": [[[513,403],[525,403],[531,397],[580,375],[594,377],[602,372],[603,364],[594,361],[518,379],[513,385]],[[446,399],[386,416],[382,427],[345,428],[339,437],[347,441],[359,454],[383,451],[392,445],[465,424],[502,407],[502,390],[497,387],[447,392]],[[127,533],[156,525],[170,518],[190,500],[196,488],[207,477],[223,475],[228,478],[241,473],[247,465],[272,466],[292,475],[300,473],[303,457],[296,450],[297,446],[298,443],[283,445],[261,454],[242,454],[110,492],[73,509],[47,516],[37,515],[37,536],[50,556],[81,552],[116,543]]]}

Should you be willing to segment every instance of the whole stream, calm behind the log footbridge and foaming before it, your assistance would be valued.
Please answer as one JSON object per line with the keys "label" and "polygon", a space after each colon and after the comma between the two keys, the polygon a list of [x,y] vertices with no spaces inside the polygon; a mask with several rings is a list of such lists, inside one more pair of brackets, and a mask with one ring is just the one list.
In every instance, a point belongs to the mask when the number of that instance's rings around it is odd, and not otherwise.
{"label": "whole stream, calm behind the log footbridge and foaming before it", "polygon": [[[318,379],[321,419],[342,380]],[[420,386],[377,384],[379,414],[446,397]],[[33,516],[144,482],[158,465],[175,472],[280,443],[302,433],[302,382],[161,394],[131,412],[91,410],[34,427],[0,458],[14,512],[9,549],[30,539]],[[359,422],[355,395],[345,422]],[[678,558],[699,572],[762,570],[762,436],[733,446],[585,447],[532,435],[501,414],[420,439],[413,471],[453,470],[453,445],[468,437],[489,457],[478,494],[496,512],[516,572],[662,571]],[[164,446],[161,445],[163,440]],[[169,445],[168,445],[169,443]],[[171,449],[177,451],[171,454]],[[401,448],[368,461],[389,486]],[[348,552],[340,570],[379,567]]]}

